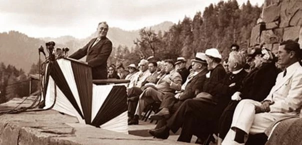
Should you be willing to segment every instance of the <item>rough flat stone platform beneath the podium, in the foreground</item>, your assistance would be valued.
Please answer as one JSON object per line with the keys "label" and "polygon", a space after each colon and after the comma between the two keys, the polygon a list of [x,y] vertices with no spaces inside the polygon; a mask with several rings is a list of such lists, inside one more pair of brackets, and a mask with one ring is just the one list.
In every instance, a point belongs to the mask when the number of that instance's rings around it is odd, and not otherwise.
{"label": "rough flat stone platform beneath the podium, in the foreground", "polygon": [[[30,106],[34,98],[29,97],[19,107]],[[22,100],[1,104],[0,112],[13,109]],[[129,126],[134,136],[79,124],[76,118],[53,110],[4,114],[0,116],[0,145],[185,145],[176,142],[177,135],[168,140],[153,139],[146,131],[154,126],[148,122]]]}

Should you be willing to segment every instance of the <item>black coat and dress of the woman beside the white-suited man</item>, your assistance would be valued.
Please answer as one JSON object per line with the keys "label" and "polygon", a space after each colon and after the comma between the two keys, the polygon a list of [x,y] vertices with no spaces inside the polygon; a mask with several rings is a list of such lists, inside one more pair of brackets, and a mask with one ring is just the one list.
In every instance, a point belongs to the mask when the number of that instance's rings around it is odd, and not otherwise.
{"label": "black coat and dress of the woman beside the white-suited man", "polygon": [[[277,75],[278,70],[274,62],[263,63],[260,68],[251,70],[242,80],[242,87],[238,91],[241,93],[241,99],[252,99],[261,102],[275,84]],[[224,139],[228,132],[238,103],[239,101],[231,100],[220,116],[219,138]]]}

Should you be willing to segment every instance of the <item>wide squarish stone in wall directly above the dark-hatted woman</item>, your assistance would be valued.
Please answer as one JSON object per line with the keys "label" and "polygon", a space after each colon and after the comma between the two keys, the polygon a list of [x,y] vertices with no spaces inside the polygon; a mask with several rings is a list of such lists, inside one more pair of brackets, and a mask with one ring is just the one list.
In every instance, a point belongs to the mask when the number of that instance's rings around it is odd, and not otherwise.
{"label": "wide squarish stone in wall directly above the dark-hatted woman", "polygon": [[280,43],[282,41],[282,36],[283,36],[282,28],[265,30],[261,32],[260,43],[261,44]]}

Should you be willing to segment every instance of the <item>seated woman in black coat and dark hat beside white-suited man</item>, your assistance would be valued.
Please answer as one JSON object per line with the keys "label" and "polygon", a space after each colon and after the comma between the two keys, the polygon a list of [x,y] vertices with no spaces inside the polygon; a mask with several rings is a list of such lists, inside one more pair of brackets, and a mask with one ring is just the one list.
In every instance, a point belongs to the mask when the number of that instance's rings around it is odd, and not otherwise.
{"label": "seated woman in black coat and dark hat beside white-suited man", "polygon": [[262,101],[275,83],[278,70],[275,66],[271,51],[265,48],[257,48],[252,54],[249,54],[249,56],[253,58],[255,68],[242,80],[241,89],[232,95],[231,101],[220,116],[218,145],[224,139],[230,128],[233,112],[238,102],[241,99]]}

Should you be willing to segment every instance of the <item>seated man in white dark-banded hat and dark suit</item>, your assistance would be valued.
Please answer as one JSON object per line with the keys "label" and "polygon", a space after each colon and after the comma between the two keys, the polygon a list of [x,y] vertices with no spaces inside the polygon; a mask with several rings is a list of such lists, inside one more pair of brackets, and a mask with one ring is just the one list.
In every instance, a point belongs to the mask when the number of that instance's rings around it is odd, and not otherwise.
{"label": "seated man in white dark-banded hat and dark suit", "polygon": [[[204,53],[197,52],[195,59],[192,59],[192,70],[194,73],[187,77],[180,91],[176,94],[167,94],[161,102],[161,109],[157,114],[150,116],[152,120],[161,120],[163,116],[169,116],[174,113],[181,103],[190,98],[194,98],[198,93],[202,92],[202,87],[205,81],[205,74],[207,73],[206,56]],[[164,124],[164,121],[161,121]],[[160,128],[162,123],[158,123],[156,128]]]}

